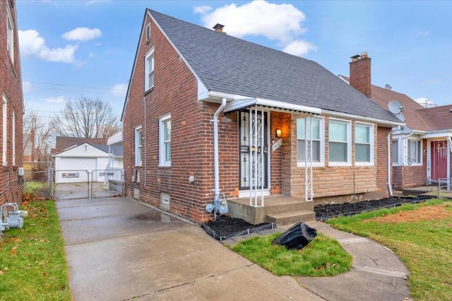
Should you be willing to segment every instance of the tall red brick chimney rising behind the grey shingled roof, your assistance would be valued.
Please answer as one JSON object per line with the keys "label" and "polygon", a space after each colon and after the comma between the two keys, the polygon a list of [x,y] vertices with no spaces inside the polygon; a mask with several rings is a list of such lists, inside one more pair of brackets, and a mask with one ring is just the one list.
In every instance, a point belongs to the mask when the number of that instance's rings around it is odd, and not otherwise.
{"label": "tall red brick chimney rising behind the grey shingled roof", "polygon": [[367,52],[351,57],[350,61],[350,85],[359,92],[370,98],[371,78],[370,78],[370,57]]}

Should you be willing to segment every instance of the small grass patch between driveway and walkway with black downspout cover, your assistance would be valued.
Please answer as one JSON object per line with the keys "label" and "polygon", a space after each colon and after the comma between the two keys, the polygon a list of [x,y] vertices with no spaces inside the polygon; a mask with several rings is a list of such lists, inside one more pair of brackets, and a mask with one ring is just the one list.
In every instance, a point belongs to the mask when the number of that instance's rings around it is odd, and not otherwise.
{"label": "small grass patch between driveway and walkway with black downspout cover", "polygon": [[352,256],[336,240],[321,233],[299,251],[271,244],[279,235],[252,237],[235,244],[232,250],[277,276],[334,276],[352,266]]}

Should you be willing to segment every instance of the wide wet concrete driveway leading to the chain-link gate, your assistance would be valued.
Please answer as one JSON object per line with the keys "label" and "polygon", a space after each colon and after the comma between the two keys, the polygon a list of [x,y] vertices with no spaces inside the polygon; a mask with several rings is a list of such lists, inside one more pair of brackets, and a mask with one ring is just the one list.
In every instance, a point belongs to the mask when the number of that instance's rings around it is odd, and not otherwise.
{"label": "wide wet concrete driveway leading to the chain-link gate", "polygon": [[74,300],[322,300],[125,197],[57,201]]}

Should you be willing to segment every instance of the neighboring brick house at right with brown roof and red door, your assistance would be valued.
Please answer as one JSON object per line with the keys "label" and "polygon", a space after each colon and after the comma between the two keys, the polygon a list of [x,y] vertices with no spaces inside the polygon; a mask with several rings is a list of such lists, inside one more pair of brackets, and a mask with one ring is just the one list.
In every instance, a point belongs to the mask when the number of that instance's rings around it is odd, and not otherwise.
{"label": "neighboring brick house at right with brown roof and red door", "polygon": [[381,107],[388,107],[393,100],[403,107],[406,125],[394,131],[392,138],[393,188],[403,190],[451,178],[452,105],[424,108],[407,95],[393,91],[390,85],[371,85],[371,58],[367,54],[353,58],[350,78],[340,78],[350,81]]}

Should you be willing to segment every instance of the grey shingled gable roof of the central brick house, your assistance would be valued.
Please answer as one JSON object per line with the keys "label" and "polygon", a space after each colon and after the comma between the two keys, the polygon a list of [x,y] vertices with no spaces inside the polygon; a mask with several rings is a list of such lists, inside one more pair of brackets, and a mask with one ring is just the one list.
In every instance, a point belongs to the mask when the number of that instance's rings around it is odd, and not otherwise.
{"label": "grey shingled gable roof of the central brick house", "polygon": [[315,61],[147,11],[209,91],[400,123]]}

